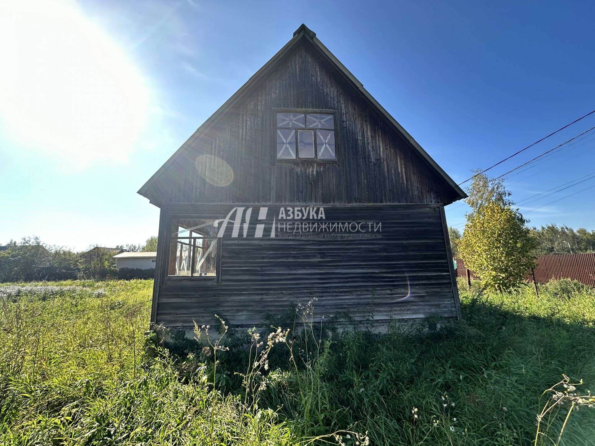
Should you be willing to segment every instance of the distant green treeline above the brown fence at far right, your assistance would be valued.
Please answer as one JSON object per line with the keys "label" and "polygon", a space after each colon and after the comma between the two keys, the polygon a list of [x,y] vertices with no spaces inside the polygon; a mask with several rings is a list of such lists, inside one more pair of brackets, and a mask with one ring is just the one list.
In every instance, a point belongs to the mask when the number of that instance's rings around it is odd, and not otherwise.
{"label": "distant green treeline above the brown fence at far right", "polygon": [[584,228],[573,230],[568,226],[547,225],[531,228],[536,239],[535,254],[575,254],[595,252],[595,231]]}

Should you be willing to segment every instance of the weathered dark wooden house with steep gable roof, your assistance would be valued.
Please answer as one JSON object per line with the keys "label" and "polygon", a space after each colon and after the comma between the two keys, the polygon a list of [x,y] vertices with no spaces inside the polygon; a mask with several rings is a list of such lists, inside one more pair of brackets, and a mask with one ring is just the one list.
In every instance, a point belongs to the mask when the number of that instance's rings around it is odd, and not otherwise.
{"label": "weathered dark wooden house with steep gable roof", "polygon": [[460,318],[464,191],[305,25],[139,190],[161,209],[152,323]]}

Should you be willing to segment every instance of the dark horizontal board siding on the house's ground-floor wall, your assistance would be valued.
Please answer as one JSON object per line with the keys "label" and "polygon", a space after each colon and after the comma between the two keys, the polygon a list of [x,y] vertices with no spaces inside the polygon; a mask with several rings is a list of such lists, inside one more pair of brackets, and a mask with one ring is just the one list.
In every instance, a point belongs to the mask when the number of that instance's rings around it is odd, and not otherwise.
{"label": "dark horizontal board siding on the house's ground-floor wall", "polygon": [[[227,215],[231,206],[174,205],[168,215]],[[255,209],[253,212],[258,212]],[[271,206],[266,228],[278,207]],[[381,223],[381,238],[223,238],[221,284],[165,277],[167,243],[158,255],[161,271],[154,322],[165,326],[213,323],[258,326],[265,315],[313,297],[314,316],[346,312],[374,323],[427,316],[456,317],[450,257],[441,206],[325,206],[325,222]],[[261,223],[262,221],[258,221]],[[305,219],[302,222],[315,222]],[[168,231],[161,228],[161,237]],[[304,234],[302,234],[304,235]]]}

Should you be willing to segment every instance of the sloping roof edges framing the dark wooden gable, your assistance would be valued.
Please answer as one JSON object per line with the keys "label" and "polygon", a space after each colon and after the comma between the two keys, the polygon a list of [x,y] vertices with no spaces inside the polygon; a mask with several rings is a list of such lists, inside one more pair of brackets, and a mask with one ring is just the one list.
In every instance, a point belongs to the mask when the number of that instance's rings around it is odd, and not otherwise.
{"label": "sloping roof edges framing the dark wooden gable", "polygon": [[[245,84],[243,84],[242,87],[240,87],[239,90],[237,90],[236,93],[233,94],[233,96],[231,96],[231,98],[229,98],[223,105],[220,106],[220,108],[217,109],[217,111],[214,112],[214,114],[211,115],[211,117],[209,117],[202,125],[201,127],[199,127],[195,133],[192,134],[192,136],[189,137],[189,139],[186,140],[186,142],[183,143],[183,145],[180,146],[180,148],[178,150],[176,150],[176,152],[170,156],[170,158],[165,162],[164,165],[162,165],[158,171],[156,171],[151,178],[149,178],[148,181],[146,181],[145,184],[143,184],[143,186],[137,191],[137,193],[139,193],[140,195],[148,198],[150,200],[150,197],[148,196],[148,189],[151,186],[152,183],[154,183],[155,180],[157,180],[157,178],[159,178],[166,170],[167,168],[173,164],[174,160],[181,155],[181,153],[184,153],[186,150],[189,150],[192,145],[193,142],[195,142],[196,139],[198,139],[199,136],[201,136],[202,133],[204,133],[206,130],[208,130],[217,120],[218,118],[223,115],[225,112],[227,112],[231,106],[233,106],[235,103],[237,103],[238,100],[240,100],[246,92],[248,92],[250,89],[252,89],[252,87],[254,87],[256,84],[259,83],[259,81],[261,81],[266,74],[272,70],[275,65],[277,65],[277,63],[279,61],[281,61],[281,59],[283,59],[283,56],[285,56],[287,53],[289,53],[293,48],[295,48],[295,46],[299,43],[302,42],[302,40],[306,40],[308,42],[310,42],[312,45],[314,45],[314,48],[318,49],[318,51],[320,52],[320,54],[323,56],[323,58],[325,58],[328,62],[330,62],[330,64],[332,66],[334,66],[334,68],[336,68],[339,73],[342,73],[344,77],[346,77],[346,79],[348,81],[350,81],[350,83],[355,86],[356,90],[359,91],[359,93],[361,93],[361,95],[364,97],[365,100],[367,100],[367,102],[369,103],[369,105],[372,106],[372,108],[374,108],[378,114],[380,114],[381,117],[383,117],[387,123],[389,123],[389,125],[391,125],[396,131],[397,133],[401,134],[403,136],[403,138],[408,141],[409,143],[411,143],[411,146],[413,147],[413,149],[421,156],[422,159],[424,159],[424,161],[427,163],[427,165],[433,169],[434,172],[436,172],[436,174],[440,177],[443,178],[443,180],[446,182],[446,184],[448,186],[450,186],[450,190],[454,190],[455,193],[458,195],[458,198],[456,200],[460,200],[460,199],[464,199],[467,197],[467,194],[461,189],[461,187],[458,186],[458,184],[455,183],[455,181],[449,177],[449,175],[444,172],[444,170],[436,163],[436,161],[434,161],[434,159],[431,158],[430,155],[428,155],[428,153],[419,145],[419,143],[405,130],[405,128],[402,127],[402,125],[400,125],[390,114],[389,112],[386,111],[386,109],[384,109],[383,106],[380,105],[380,103],[378,103],[378,101],[376,99],[374,99],[374,97],[368,92],[368,90],[366,90],[364,88],[364,84],[362,84],[355,76],[353,76],[353,74],[347,70],[347,68],[345,67],[345,65],[343,65],[339,59],[337,59],[333,53],[331,53],[326,46],[322,45],[322,42],[320,42],[320,40],[317,39],[316,37],[316,33],[314,31],[312,31],[311,29],[309,29],[305,24],[301,24],[300,27],[293,33],[293,38],[291,40],[289,40],[289,42],[286,43],[285,46],[283,46],[283,48],[281,48],[277,54],[275,54],[266,64],[264,64],[260,70],[256,71],[255,74],[253,74],[252,77],[250,77],[248,79],[248,81],[246,81]],[[446,191],[444,191],[443,193],[445,193]],[[454,201],[456,201],[454,200]]]}

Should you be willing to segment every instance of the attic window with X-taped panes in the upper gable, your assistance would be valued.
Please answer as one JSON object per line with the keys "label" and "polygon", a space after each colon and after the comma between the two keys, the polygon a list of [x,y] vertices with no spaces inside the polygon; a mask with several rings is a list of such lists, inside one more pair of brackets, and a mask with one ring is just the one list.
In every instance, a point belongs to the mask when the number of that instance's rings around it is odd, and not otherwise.
{"label": "attic window with X-taped panes in the upper gable", "polygon": [[335,161],[333,112],[283,111],[277,113],[277,160]]}

